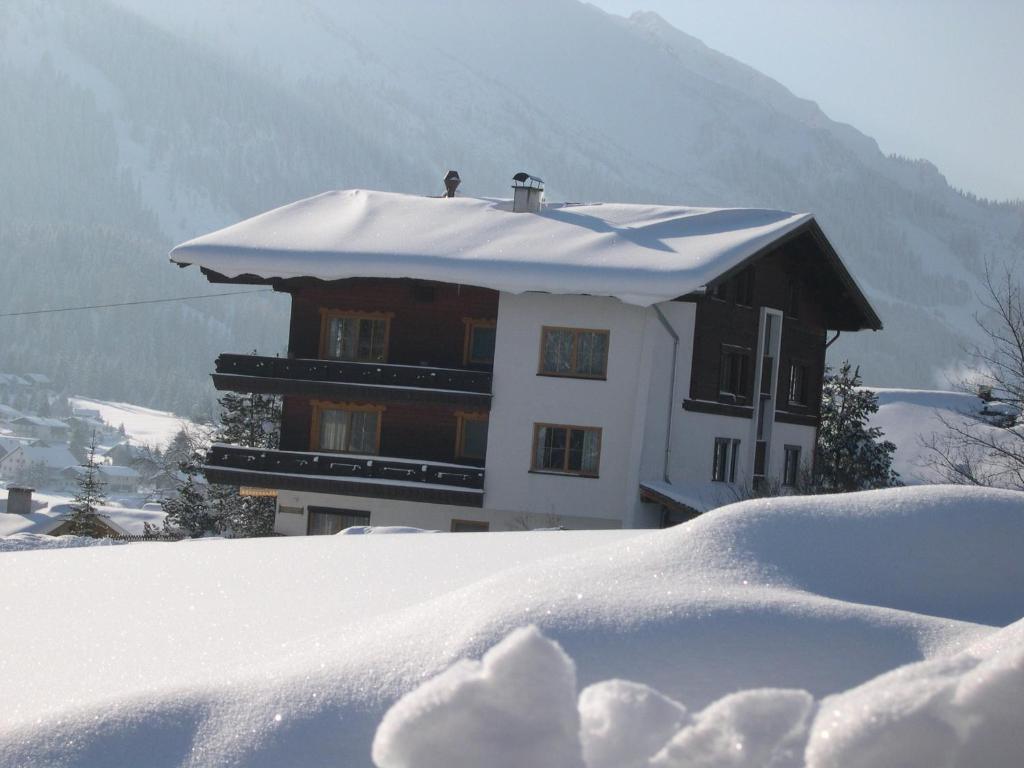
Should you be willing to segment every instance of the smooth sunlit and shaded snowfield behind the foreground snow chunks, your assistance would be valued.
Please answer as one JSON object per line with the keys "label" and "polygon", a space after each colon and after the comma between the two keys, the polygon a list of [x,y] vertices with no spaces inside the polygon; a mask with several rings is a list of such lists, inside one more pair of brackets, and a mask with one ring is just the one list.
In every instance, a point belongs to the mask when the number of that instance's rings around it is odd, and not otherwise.
{"label": "smooth sunlit and shaded snowfield behind the foreground snow chunks", "polygon": [[694,713],[751,688],[818,699],[1018,620],[1022,536],[1019,495],[932,486],[656,531],[5,553],[5,641],[32,653],[0,656],[0,764],[367,765],[402,694],[529,624],[581,686],[633,680]]}

